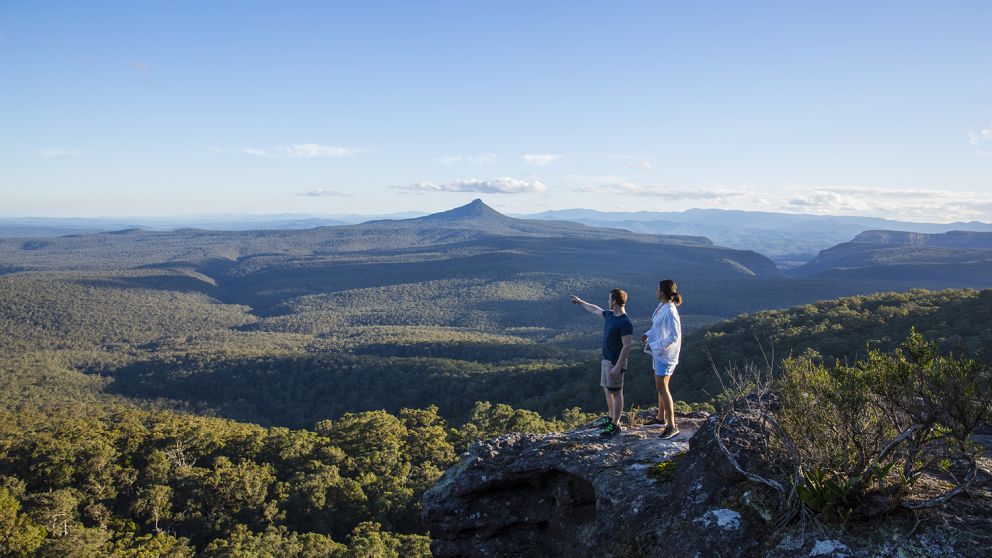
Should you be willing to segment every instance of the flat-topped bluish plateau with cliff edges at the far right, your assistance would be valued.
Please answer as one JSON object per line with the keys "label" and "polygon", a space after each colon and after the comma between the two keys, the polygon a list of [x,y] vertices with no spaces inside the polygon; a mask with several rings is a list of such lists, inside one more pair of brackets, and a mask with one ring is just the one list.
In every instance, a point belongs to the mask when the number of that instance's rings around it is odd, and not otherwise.
{"label": "flat-topped bluish plateau with cliff edges at the far right", "polygon": [[791,274],[824,279],[897,277],[921,286],[939,280],[947,286],[985,287],[992,284],[992,233],[867,231],[823,250]]}

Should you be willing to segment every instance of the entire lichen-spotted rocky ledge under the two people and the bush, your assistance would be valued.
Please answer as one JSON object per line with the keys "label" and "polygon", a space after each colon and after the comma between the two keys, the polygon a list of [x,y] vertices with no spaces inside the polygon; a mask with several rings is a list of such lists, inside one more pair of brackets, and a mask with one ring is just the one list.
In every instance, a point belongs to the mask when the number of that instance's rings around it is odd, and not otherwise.
{"label": "entire lichen-spotted rocky ledge under the two people and the bush", "polygon": [[[755,417],[682,417],[682,433],[635,426],[507,434],[475,444],[424,495],[439,558],[468,556],[987,556],[992,461],[939,510],[846,526],[779,526],[774,491],[746,479],[766,467]],[[978,437],[989,447],[990,437]]]}

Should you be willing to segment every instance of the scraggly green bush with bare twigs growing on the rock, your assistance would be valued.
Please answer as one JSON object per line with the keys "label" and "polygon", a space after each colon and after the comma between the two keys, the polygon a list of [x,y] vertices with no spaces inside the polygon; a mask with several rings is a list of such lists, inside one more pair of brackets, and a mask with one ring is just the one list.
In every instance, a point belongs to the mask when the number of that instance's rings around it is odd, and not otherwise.
{"label": "scraggly green bush with bare twigs growing on the rock", "polygon": [[[946,502],[975,477],[974,429],[992,416],[992,374],[978,360],[942,355],[915,331],[894,353],[869,351],[828,368],[815,354],[788,359],[775,413],[796,447],[797,494],[843,521]],[[921,475],[954,471],[953,488],[922,500]]]}

